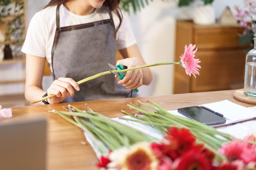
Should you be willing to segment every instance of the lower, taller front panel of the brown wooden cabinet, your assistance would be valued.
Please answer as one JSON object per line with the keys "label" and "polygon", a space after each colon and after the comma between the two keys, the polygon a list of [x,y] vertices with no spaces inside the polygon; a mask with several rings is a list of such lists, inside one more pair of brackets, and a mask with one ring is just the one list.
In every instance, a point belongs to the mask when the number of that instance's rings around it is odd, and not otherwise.
{"label": "lower, taller front panel of the brown wooden cabinet", "polygon": [[200,76],[191,79],[191,92],[229,89],[231,83],[243,81],[245,55],[243,50],[198,51]]}

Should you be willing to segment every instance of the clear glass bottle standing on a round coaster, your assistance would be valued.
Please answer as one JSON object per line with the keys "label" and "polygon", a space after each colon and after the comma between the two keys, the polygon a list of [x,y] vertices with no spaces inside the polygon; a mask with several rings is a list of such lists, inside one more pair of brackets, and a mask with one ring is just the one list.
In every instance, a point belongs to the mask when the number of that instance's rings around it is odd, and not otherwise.
{"label": "clear glass bottle standing on a round coaster", "polygon": [[254,48],[246,54],[244,92],[249,97],[256,98],[256,37]]}

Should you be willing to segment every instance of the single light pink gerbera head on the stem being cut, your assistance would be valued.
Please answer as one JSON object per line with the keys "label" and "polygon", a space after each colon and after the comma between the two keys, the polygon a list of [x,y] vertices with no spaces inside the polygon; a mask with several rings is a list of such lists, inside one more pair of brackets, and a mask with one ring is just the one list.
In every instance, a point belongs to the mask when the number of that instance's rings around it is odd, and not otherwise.
{"label": "single light pink gerbera head on the stem being cut", "polygon": [[195,57],[195,52],[198,50],[198,48],[195,48],[195,45],[189,44],[189,46],[185,46],[185,51],[184,54],[182,55],[182,57],[180,57],[180,65],[185,68],[186,74],[191,76],[191,74],[193,74],[195,76],[195,74],[199,75],[199,70],[198,68],[201,68],[200,65],[198,65],[198,63],[200,63],[201,61],[199,61],[199,59],[194,59]]}

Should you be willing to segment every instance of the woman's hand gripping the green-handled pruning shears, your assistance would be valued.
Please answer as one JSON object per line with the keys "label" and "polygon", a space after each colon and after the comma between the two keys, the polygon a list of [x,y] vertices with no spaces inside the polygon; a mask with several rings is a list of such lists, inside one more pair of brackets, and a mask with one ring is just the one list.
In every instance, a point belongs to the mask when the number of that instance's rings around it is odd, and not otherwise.
{"label": "woman's hand gripping the green-handled pruning shears", "polygon": [[[117,61],[117,65],[121,64],[127,68],[141,66],[141,62],[136,57],[126,58]],[[135,69],[125,72],[123,80],[118,81],[118,84],[122,84],[128,89],[136,89],[140,87],[143,83],[142,69]]]}

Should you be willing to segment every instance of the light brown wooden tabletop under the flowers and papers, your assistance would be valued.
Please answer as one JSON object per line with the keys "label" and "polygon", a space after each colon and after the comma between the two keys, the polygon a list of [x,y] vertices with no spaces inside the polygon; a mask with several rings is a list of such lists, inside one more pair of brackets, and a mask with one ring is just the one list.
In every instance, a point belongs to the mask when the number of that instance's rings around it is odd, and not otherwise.
{"label": "light brown wooden tabletop under the flowers and papers", "polygon": [[[168,96],[74,102],[70,104],[79,109],[86,109],[85,103],[87,103],[93,110],[110,118],[124,116],[124,114],[121,113],[122,109],[130,113],[134,112],[128,108],[127,104],[129,102],[136,103],[137,100],[140,100],[141,102],[151,100],[166,110],[175,110],[180,107],[201,105],[226,99],[245,107],[254,106],[236,100],[233,97],[234,92],[235,90],[225,90],[173,94]],[[97,157],[91,146],[86,141],[83,132],[77,126],[71,124],[61,116],[48,112],[52,109],[62,111],[62,106],[67,106],[67,104],[13,107],[11,108],[13,112],[12,119],[40,114],[47,115],[49,117],[47,123],[47,170],[97,169],[95,166],[98,162]],[[86,144],[83,144],[83,142],[86,142]]]}

